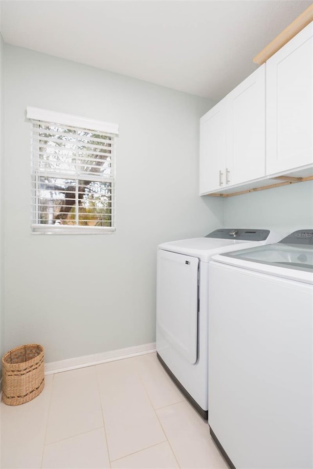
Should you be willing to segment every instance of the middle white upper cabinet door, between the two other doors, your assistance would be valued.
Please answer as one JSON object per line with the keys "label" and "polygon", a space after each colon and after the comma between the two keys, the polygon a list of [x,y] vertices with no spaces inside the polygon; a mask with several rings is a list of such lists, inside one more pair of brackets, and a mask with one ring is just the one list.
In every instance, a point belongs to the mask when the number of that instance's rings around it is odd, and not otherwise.
{"label": "middle white upper cabinet door, between the two other doors", "polygon": [[265,176],[265,64],[227,96],[227,185]]}

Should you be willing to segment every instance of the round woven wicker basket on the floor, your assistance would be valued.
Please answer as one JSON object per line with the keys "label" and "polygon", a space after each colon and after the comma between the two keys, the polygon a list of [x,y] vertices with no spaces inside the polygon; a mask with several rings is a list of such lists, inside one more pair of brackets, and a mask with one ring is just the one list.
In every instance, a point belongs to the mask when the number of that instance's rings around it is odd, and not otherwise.
{"label": "round woven wicker basket on the floor", "polygon": [[2,357],[2,400],[20,405],[34,399],[45,387],[45,349],[37,343],[13,348]]}

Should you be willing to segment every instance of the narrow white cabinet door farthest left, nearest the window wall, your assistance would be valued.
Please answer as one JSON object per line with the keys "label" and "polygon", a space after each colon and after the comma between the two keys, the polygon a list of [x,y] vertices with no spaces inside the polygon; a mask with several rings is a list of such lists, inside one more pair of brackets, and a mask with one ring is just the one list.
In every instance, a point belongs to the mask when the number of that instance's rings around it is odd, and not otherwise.
{"label": "narrow white cabinet door farthest left, nearest the window wall", "polygon": [[200,119],[200,195],[225,184],[226,109],[224,100]]}

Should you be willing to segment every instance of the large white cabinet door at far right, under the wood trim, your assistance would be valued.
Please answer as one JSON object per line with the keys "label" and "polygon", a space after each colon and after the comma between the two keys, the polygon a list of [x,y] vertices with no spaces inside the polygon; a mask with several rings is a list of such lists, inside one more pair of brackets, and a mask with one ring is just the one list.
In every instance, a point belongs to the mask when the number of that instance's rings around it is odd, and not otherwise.
{"label": "large white cabinet door at far right, under the wood trim", "polygon": [[267,174],[313,163],[313,23],[267,62]]}

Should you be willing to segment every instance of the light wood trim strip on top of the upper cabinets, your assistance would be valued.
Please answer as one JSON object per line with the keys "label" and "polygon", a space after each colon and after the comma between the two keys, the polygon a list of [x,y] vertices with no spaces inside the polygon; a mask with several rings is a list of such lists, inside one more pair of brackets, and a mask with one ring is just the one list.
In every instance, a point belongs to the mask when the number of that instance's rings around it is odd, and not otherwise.
{"label": "light wood trim strip on top of the upper cabinets", "polygon": [[271,43],[269,43],[253,62],[258,65],[264,64],[272,55],[287,44],[296,34],[313,21],[313,4],[309,6],[298,18],[292,21]]}

